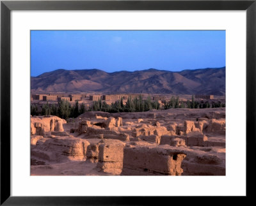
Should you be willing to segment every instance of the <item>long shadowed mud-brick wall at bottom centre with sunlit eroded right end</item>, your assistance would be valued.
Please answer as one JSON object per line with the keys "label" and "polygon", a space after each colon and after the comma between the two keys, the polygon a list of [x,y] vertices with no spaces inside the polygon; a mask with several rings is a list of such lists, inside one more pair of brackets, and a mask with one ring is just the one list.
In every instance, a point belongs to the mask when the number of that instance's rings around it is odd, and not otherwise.
{"label": "long shadowed mud-brick wall at bottom centre with sunlit eroded right end", "polygon": [[186,154],[172,147],[132,146],[124,149],[122,175],[181,175]]}

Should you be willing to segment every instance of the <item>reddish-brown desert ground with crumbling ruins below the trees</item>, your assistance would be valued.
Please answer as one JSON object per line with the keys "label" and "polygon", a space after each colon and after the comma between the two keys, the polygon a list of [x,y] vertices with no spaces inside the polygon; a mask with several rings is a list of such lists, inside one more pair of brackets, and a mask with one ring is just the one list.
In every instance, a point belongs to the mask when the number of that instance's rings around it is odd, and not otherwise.
{"label": "reddish-brown desert ground with crumbling ruins below the trees", "polygon": [[31,175],[225,175],[225,108],[31,115]]}

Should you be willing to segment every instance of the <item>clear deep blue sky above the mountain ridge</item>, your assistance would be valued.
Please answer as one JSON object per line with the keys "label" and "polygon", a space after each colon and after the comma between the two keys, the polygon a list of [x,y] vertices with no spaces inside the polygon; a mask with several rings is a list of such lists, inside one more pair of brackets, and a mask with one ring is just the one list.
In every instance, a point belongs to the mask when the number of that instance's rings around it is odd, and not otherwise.
{"label": "clear deep blue sky above the mountain ridge", "polygon": [[225,31],[31,31],[31,76],[58,69],[220,68],[225,38]]}

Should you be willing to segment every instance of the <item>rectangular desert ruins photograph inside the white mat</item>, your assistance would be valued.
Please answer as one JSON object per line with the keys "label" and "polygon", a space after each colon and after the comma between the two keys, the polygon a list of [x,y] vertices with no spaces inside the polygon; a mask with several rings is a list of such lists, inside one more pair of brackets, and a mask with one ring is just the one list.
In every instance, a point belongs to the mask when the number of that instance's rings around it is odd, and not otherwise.
{"label": "rectangular desert ruins photograph inside the white mat", "polygon": [[226,175],[225,30],[31,30],[30,175]]}

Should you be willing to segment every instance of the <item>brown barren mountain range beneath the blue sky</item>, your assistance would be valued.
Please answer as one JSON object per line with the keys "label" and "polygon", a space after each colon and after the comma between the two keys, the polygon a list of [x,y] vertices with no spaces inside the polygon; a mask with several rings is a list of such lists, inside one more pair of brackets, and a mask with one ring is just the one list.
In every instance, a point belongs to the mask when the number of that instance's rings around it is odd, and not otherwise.
{"label": "brown barren mountain range beneath the blue sky", "polygon": [[225,95],[226,68],[166,71],[54,70],[31,77],[31,92]]}

